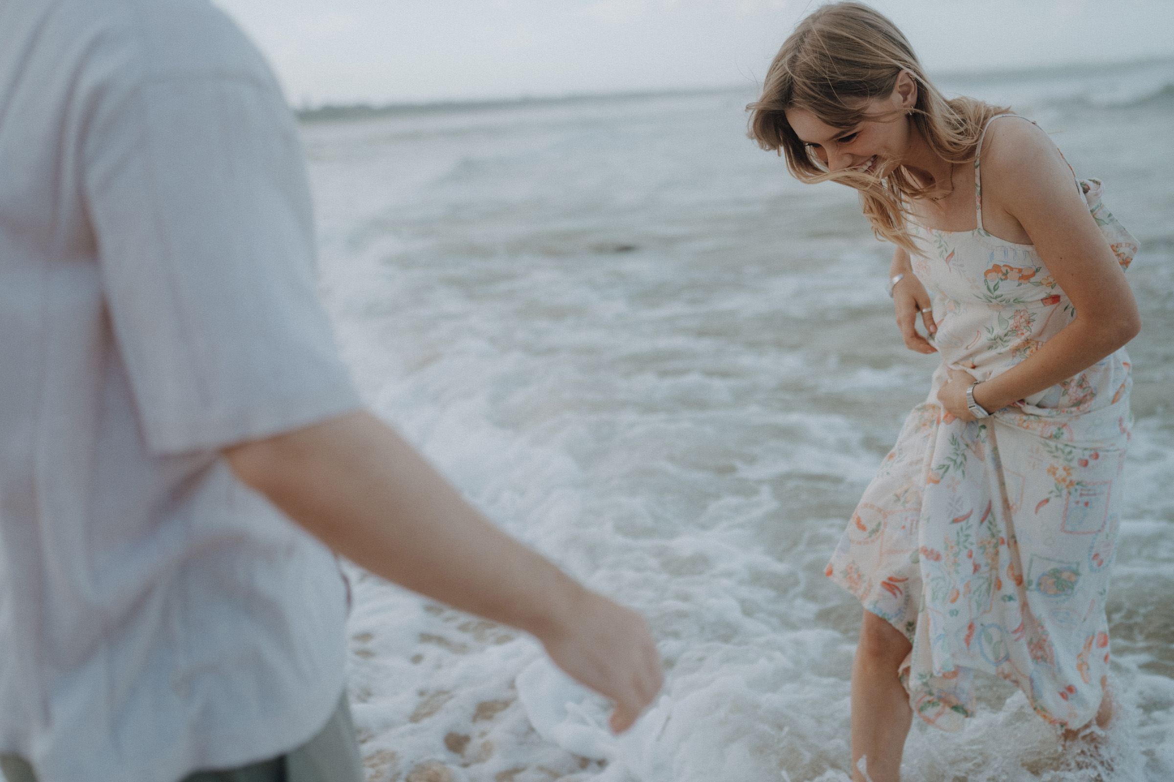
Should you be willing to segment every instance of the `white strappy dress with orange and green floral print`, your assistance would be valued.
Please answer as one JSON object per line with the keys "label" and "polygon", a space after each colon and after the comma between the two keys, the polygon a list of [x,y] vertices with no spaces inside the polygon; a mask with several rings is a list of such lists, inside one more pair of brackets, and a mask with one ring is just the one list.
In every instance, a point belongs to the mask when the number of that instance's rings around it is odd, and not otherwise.
{"label": "white strappy dress with orange and green floral print", "polygon": [[[1078,185],[1128,266],[1138,244],[1101,204],[1101,183]],[[977,156],[974,190],[976,230],[913,229],[927,249],[913,272],[933,298],[942,366],[826,574],[910,640],[900,680],[926,722],[960,729],[974,712],[973,672],[985,671],[1018,685],[1050,723],[1078,728],[1108,671],[1129,358],[1119,349],[979,421],[942,409],[947,367],[994,378],[1075,317],[1034,246],[983,230]]]}

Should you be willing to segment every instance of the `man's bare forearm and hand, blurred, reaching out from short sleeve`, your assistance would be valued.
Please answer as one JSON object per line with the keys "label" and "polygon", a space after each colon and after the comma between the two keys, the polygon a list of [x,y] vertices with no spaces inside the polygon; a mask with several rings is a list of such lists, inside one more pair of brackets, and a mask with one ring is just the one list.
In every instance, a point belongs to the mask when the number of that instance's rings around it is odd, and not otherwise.
{"label": "man's bare forearm and hand, blurred, reaching out from short sleeve", "polygon": [[640,614],[591,592],[473,510],[370,413],[224,450],[232,471],[336,552],[410,590],[535,635],[616,703],[627,729],[660,691]]}

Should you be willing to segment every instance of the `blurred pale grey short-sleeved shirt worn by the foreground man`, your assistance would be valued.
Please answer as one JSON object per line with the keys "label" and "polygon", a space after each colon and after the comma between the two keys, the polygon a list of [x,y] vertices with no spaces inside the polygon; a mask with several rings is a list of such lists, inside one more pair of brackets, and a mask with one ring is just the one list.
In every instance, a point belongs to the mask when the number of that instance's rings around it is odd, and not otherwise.
{"label": "blurred pale grey short-sleeved shirt worn by the foreground man", "polygon": [[359,406],[304,161],[205,0],[0,0],[0,753],[176,782],[313,735],[332,555],[218,449]]}

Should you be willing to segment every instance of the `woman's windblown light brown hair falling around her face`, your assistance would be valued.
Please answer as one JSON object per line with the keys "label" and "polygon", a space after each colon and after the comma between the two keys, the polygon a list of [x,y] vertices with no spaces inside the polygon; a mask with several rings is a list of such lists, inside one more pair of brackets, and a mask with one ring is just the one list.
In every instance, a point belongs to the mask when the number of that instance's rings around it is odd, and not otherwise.
{"label": "woman's windblown light brown hair falling around her face", "polygon": [[785,114],[807,109],[824,124],[843,129],[889,120],[895,111],[869,114],[866,104],[892,95],[902,70],[917,82],[909,120],[930,149],[950,163],[974,159],[986,121],[1007,109],[971,97],[946,100],[925,77],[897,26],[861,2],[826,5],[799,22],[770,63],[762,96],[747,107],[748,135],[763,149],[785,156],[787,168],[802,182],[834,181],[856,188],[877,238],[920,254],[909,233],[909,202],[929,189],[918,186],[903,166],[883,179],[849,169],[829,171],[799,141]]}

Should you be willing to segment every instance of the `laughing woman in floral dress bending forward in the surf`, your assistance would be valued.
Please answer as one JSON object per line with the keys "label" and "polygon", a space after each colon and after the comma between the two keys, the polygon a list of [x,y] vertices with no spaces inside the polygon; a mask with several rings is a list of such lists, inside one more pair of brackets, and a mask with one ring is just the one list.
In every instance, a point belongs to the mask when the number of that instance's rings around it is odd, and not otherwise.
{"label": "laughing woman in floral dress bending forward in the surf", "polygon": [[749,109],[750,135],[796,177],[859,190],[896,245],[905,345],[942,356],[828,565],[866,608],[855,778],[864,759],[872,782],[899,777],[913,713],[959,729],[974,671],[1059,729],[1104,725],[1135,240],[1044,131],[945,100],[868,6],[803,20]]}

